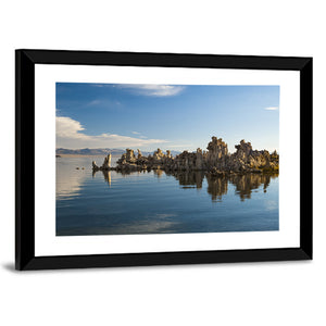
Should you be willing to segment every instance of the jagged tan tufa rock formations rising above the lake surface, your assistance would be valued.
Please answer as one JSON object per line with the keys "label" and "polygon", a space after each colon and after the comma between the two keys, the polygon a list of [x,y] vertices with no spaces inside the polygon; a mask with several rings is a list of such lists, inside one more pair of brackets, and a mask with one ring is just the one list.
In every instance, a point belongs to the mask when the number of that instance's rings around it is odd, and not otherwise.
{"label": "jagged tan tufa rock formations rising above the lake surface", "polygon": [[278,173],[279,155],[276,151],[272,154],[266,151],[253,150],[250,142],[241,140],[235,146],[236,152],[229,153],[227,145],[222,138],[212,137],[208,145],[208,151],[200,148],[196,152],[184,151],[175,158],[167,150],[164,153],[161,149],[154,151],[153,155],[143,156],[138,149],[136,158],[134,150],[126,149],[126,152],[116,162],[115,167],[111,167],[111,154],[105,158],[101,167],[92,163],[92,168],[116,170],[116,171],[150,171],[164,170],[173,171],[204,171],[210,175],[241,174],[241,173]]}

